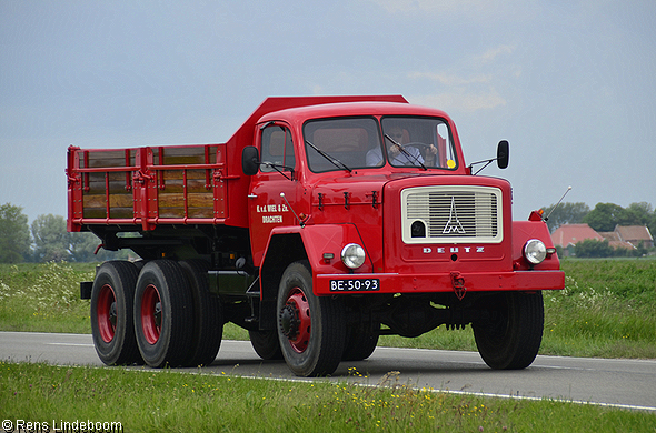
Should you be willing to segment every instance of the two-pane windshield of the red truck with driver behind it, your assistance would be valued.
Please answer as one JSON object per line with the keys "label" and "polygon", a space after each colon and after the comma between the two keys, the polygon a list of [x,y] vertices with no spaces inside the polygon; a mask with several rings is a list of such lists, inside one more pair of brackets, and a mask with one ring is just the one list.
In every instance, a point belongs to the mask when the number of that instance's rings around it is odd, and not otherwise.
{"label": "two-pane windshield of the red truck with driver behind it", "polygon": [[[381,128],[380,128],[381,125]],[[445,120],[419,117],[312,120],[304,125],[308,165],[314,172],[362,168],[455,169],[456,153]],[[337,163],[336,163],[337,162]]]}

